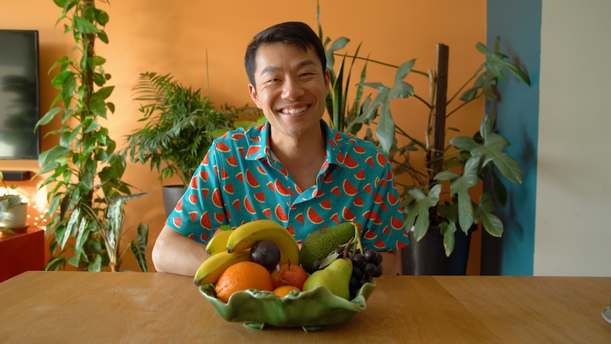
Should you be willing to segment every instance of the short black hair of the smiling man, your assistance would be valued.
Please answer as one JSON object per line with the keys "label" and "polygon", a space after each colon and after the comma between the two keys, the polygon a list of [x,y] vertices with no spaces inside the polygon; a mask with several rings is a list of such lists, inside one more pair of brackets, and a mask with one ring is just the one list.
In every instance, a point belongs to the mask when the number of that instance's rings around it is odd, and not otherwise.
{"label": "short black hair of the smiling man", "polygon": [[263,45],[278,42],[295,45],[303,51],[308,51],[310,48],[313,49],[320,63],[323,65],[323,74],[325,74],[325,70],[327,70],[327,57],[325,55],[323,43],[320,42],[318,35],[316,35],[314,30],[306,23],[288,21],[286,23],[276,24],[257,33],[246,48],[244,65],[246,67],[248,80],[255,89],[257,88],[257,84],[254,83],[254,70],[257,68],[257,63],[255,62],[257,50]]}

